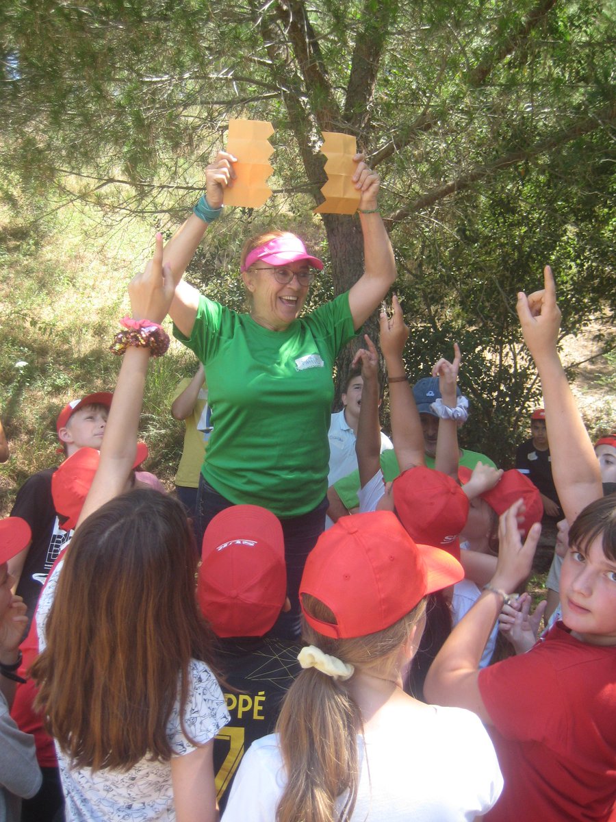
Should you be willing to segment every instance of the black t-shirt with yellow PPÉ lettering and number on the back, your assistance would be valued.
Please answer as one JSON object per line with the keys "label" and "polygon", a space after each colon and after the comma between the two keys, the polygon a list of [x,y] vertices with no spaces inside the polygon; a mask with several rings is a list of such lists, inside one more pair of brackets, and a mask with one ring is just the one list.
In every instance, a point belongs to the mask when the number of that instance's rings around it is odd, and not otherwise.
{"label": "black t-shirt with yellow PP\u00c9 lettering and number on the back", "polygon": [[214,740],[216,795],[221,814],[241,757],[255,739],[274,732],[280,703],[301,671],[301,643],[261,637],[218,640],[216,661],[228,685],[224,698],[231,722]]}

